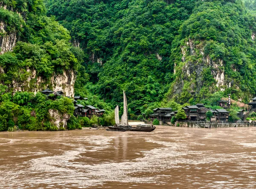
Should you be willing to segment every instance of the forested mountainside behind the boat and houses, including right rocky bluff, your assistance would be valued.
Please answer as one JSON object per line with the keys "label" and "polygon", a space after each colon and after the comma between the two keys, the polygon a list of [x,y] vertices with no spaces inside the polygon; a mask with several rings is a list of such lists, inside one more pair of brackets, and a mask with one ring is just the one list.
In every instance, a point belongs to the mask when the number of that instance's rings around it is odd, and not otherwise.
{"label": "forested mountainside behind the boat and houses, including right rocky bluff", "polygon": [[[47,14],[84,51],[85,90],[132,113],[256,94],[254,0],[47,0]],[[250,9],[250,11],[249,11]],[[83,90],[81,90],[83,87]]]}

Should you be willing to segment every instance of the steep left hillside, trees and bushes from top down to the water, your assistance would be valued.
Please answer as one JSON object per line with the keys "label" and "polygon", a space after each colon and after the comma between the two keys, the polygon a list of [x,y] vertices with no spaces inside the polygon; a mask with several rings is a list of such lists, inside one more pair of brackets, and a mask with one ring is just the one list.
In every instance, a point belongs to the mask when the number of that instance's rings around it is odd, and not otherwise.
{"label": "steep left hillside, trees and bushes from top down to the water", "polygon": [[52,121],[59,115],[66,124],[73,101],[30,91],[52,88],[52,78],[78,70],[81,50],[69,40],[67,29],[46,16],[43,1],[0,1],[0,131],[64,129]]}

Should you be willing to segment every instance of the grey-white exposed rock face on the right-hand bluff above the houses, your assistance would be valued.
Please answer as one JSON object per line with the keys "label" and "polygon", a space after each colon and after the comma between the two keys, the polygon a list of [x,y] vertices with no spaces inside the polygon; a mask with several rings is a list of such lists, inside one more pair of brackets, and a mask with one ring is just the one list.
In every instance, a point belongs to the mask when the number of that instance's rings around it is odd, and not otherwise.
{"label": "grey-white exposed rock face on the right-hand bluff above the houses", "polygon": [[[182,53],[181,63],[179,69],[181,74],[177,76],[175,83],[172,86],[172,92],[169,94],[169,99],[177,97],[182,93],[184,86],[186,86],[192,96],[198,94],[204,85],[204,70],[209,68],[210,74],[215,80],[215,85],[209,87],[209,91],[215,92],[217,90],[225,90],[225,86],[230,86],[225,79],[225,70],[223,60],[212,60],[209,55],[204,53],[205,41],[201,41],[199,44],[189,39],[185,45],[180,47]],[[174,73],[177,73],[177,66],[175,64]]]}

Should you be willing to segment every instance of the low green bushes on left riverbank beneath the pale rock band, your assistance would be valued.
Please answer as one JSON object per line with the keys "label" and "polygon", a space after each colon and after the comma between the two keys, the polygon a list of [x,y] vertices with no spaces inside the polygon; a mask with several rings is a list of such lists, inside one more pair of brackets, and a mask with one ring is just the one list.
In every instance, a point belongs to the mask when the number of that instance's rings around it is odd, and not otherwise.
{"label": "low green bushes on left riverbank beneath the pale rock band", "polygon": [[49,99],[42,93],[19,92],[12,96],[7,87],[0,85],[0,131],[19,129],[29,131],[53,131],[55,127],[49,110],[58,110],[61,115],[73,115],[73,100],[60,97]]}

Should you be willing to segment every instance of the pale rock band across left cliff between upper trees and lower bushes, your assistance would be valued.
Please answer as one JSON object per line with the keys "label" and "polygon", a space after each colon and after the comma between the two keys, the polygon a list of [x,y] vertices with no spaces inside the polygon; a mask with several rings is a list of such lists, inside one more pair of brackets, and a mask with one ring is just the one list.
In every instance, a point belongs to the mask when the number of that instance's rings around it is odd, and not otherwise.
{"label": "pale rock band across left cliff between upper trees and lower bushes", "polygon": [[12,81],[13,92],[30,91],[37,93],[38,91],[49,88],[53,91],[61,90],[65,96],[74,96],[74,84],[76,75],[73,70],[64,70],[63,74],[53,75],[46,80],[41,76],[37,76],[36,70],[26,70],[28,77],[26,81]]}

